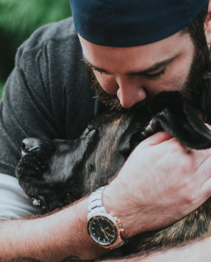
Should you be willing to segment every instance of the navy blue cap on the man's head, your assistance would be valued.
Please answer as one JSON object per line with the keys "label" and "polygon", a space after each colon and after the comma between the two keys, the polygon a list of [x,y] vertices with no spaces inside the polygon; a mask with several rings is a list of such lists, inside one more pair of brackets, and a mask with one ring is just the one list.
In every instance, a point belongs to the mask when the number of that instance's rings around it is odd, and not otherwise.
{"label": "navy blue cap on the man's head", "polygon": [[97,45],[146,45],[184,29],[208,0],[70,0],[77,33]]}

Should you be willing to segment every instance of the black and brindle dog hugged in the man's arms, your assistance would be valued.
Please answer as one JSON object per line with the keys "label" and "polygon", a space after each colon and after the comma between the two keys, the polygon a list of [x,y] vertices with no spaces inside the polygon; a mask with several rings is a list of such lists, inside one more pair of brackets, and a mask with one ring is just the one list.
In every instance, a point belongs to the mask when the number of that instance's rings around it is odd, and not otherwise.
{"label": "black and brindle dog hugged in the man's arms", "polygon": [[[190,148],[211,147],[211,131],[179,92],[160,93],[150,111],[105,113],[75,140],[25,139],[16,169],[20,186],[30,198],[39,199],[37,204],[44,214],[107,185],[135,146],[156,131],[164,129]],[[154,130],[146,128],[151,119]],[[211,230],[210,222],[208,199],[177,223],[134,236],[124,245],[122,254],[194,239]]]}

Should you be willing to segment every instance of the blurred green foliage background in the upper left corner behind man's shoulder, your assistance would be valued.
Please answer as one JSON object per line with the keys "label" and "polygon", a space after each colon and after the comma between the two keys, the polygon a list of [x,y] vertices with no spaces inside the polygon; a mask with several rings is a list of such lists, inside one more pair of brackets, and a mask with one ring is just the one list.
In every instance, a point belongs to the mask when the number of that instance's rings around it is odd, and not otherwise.
{"label": "blurred green foliage background in the upper left corner behind man's shoulder", "polygon": [[21,43],[43,24],[69,16],[69,0],[0,0],[0,98]]}

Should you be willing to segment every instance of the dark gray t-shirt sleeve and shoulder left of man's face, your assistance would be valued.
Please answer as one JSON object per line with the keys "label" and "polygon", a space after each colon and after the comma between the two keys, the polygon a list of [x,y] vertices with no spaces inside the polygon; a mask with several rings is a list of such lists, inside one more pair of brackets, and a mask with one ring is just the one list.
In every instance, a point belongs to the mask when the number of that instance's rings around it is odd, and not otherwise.
{"label": "dark gray t-shirt sleeve and shoulder left of man's face", "polygon": [[26,137],[75,139],[96,102],[72,18],[36,30],[17,50],[0,102],[0,172],[15,176]]}

